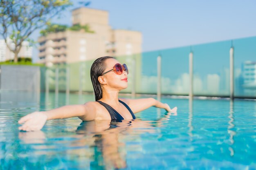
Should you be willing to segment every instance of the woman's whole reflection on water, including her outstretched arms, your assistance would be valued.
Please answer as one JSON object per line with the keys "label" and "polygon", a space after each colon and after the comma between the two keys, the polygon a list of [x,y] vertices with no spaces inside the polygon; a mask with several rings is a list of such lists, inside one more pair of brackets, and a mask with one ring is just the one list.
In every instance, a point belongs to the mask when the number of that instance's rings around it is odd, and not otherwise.
{"label": "woman's whole reflection on water, including her outstretched arms", "polygon": [[[69,155],[80,155],[84,153],[75,148],[90,148],[86,150],[87,159],[91,160],[90,169],[111,170],[127,168],[126,146],[121,139],[126,138],[136,129],[141,129],[136,132],[137,135],[155,132],[151,121],[87,121],[77,127],[76,135],[69,137],[57,136],[47,139],[47,135],[43,131],[19,132],[18,137],[22,141],[22,145],[31,145],[29,157],[45,154],[47,157],[54,157],[56,151],[63,148],[73,148],[73,150],[67,150]],[[135,148],[141,150],[140,146]],[[64,160],[61,161],[64,162]],[[79,166],[83,164],[80,161],[76,163]]]}

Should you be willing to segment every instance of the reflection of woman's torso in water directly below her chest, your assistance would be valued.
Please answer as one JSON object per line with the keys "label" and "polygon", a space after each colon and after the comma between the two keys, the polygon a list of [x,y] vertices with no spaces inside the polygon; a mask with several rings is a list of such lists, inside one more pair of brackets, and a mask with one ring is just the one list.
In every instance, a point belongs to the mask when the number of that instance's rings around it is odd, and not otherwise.
{"label": "reflection of woman's torso in water directly below her chest", "polygon": [[131,121],[109,122],[109,121],[88,121],[82,122],[77,128],[78,134],[93,134],[94,161],[90,163],[90,169],[98,169],[104,166],[106,169],[126,168],[125,144],[119,141]]}

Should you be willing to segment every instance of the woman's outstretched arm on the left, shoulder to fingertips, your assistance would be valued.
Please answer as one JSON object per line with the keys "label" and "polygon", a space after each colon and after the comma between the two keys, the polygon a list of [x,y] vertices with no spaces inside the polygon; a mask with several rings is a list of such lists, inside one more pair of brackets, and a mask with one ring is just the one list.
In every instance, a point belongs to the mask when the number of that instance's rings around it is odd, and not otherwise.
{"label": "woman's outstretched arm on the left, shoulder to fingertips", "polygon": [[[90,114],[88,114],[90,113]],[[40,130],[45,125],[47,120],[65,119],[69,117],[79,117],[84,121],[94,120],[96,110],[93,102],[88,102],[83,105],[68,105],[56,108],[53,110],[33,112],[22,117],[18,123],[23,124],[19,130],[33,131]]]}

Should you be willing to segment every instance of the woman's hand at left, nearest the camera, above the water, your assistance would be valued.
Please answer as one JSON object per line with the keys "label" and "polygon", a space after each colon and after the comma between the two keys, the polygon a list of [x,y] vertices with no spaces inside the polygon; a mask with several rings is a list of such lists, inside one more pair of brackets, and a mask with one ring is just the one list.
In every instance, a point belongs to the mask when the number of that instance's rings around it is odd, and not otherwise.
{"label": "woman's hand at left, nearest the camera, above the water", "polygon": [[19,130],[35,131],[40,130],[45,125],[47,115],[44,112],[33,112],[22,117],[18,123],[23,124],[19,127]]}

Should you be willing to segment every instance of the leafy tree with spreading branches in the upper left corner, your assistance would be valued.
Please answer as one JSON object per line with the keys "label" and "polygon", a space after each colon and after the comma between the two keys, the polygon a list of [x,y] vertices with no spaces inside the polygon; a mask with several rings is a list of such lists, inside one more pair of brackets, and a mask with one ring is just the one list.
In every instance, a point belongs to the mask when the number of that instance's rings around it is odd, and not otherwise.
{"label": "leafy tree with spreading branches in the upper left corner", "polygon": [[[18,61],[22,42],[49,20],[71,6],[70,0],[0,0],[0,35]],[[7,39],[13,41],[11,47]]]}

